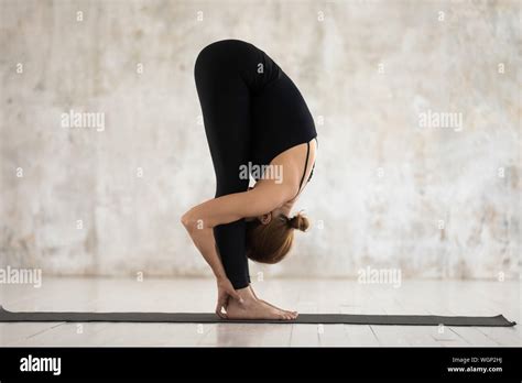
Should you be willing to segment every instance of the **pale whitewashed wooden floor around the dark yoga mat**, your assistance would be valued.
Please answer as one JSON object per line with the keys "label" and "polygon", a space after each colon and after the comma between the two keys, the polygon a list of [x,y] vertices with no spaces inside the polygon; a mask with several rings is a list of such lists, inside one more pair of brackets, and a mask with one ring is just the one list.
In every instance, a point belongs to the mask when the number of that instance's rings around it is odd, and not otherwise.
{"label": "pale whitewashed wooden floor around the dark yoga mat", "polygon": [[[254,283],[259,296],[301,313],[503,314],[520,322],[521,284],[403,281],[402,286],[345,280]],[[45,278],[41,288],[0,285],[11,310],[211,311],[211,280]],[[0,324],[0,346],[521,346],[511,328],[361,325]]]}

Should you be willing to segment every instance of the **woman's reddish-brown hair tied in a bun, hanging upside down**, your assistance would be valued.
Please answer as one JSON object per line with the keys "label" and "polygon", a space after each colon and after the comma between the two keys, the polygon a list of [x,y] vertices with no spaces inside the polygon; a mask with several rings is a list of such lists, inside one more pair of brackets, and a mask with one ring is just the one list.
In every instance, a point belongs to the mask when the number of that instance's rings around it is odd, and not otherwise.
{"label": "woman's reddish-brown hair tied in a bun, hanging upside down", "polygon": [[289,218],[285,215],[273,217],[262,225],[259,220],[247,223],[247,256],[260,263],[278,263],[292,248],[294,230],[306,231],[308,219],[301,214]]}

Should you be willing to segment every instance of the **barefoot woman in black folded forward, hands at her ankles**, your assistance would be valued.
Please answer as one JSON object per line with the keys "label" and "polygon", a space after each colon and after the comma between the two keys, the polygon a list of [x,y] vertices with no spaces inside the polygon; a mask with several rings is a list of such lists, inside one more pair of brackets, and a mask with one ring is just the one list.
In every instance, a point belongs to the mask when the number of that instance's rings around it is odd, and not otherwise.
{"label": "barefoot woman in black folded forward, hands at her ankles", "polygon": [[290,212],[315,166],[313,118],[294,83],[250,43],[207,45],[194,75],[217,186],[215,198],[188,210],[182,222],[216,276],[216,314],[295,319],[296,311],[255,296],[248,258],[280,262],[293,231],[308,228],[305,217]]}

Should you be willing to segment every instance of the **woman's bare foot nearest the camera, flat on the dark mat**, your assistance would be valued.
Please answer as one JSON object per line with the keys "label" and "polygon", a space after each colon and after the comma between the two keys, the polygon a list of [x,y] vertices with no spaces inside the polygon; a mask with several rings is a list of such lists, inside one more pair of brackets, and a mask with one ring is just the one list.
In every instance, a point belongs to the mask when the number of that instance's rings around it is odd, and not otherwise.
{"label": "woman's bare foot nearest the camera, flat on the dark mat", "polygon": [[227,306],[228,319],[294,319],[294,316],[290,313],[257,299],[249,287],[241,288],[238,293],[241,295],[243,303],[240,304],[237,299],[229,300]]}

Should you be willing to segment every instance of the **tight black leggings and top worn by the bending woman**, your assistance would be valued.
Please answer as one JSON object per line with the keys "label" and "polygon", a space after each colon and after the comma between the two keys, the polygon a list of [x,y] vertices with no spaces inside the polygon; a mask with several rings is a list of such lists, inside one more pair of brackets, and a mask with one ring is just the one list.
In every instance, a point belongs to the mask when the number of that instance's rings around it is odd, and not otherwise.
{"label": "tight black leggings and top worn by the bending woman", "polygon": [[[269,164],[276,154],[314,138],[313,120],[297,88],[254,45],[239,40],[207,45],[194,75],[216,173],[216,198],[248,189],[249,179],[239,176],[241,165]],[[214,236],[233,287],[247,287],[244,219],[216,227]]]}

